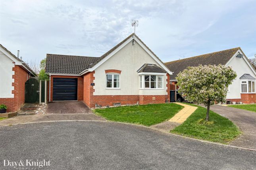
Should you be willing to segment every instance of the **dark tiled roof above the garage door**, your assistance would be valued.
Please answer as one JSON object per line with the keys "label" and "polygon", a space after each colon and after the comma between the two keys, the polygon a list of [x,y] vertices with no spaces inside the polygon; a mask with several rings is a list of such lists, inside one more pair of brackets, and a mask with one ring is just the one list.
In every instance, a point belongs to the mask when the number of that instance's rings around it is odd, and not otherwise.
{"label": "dark tiled roof above the garage door", "polygon": [[99,57],[46,54],[46,73],[79,74]]}

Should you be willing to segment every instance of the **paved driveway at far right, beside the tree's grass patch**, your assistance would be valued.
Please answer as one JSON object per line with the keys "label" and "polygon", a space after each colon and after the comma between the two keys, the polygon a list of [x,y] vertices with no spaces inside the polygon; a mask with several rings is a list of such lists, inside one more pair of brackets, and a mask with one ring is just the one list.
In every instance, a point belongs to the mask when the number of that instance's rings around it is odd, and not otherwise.
{"label": "paved driveway at far right, beside the tree's grass patch", "polygon": [[219,105],[211,106],[210,110],[227,117],[243,131],[230,145],[256,149],[256,113]]}

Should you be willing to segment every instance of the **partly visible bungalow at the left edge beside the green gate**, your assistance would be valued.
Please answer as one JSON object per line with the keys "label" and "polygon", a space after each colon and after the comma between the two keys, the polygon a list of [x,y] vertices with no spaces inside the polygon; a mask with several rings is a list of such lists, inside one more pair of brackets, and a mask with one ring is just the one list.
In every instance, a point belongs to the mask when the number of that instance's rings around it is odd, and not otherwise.
{"label": "partly visible bungalow at the left edge beside the green gate", "polygon": [[18,111],[25,103],[25,82],[37,75],[19,57],[0,44],[0,104]]}

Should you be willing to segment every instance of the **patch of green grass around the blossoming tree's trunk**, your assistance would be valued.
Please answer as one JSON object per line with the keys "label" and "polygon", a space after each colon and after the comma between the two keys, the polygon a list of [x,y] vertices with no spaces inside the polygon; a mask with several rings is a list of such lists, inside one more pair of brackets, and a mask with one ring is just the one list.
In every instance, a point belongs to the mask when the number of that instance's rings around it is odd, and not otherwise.
{"label": "patch of green grass around the blossoming tree's trunk", "polygon": [[183,124],[171,130],[171,133],[223,144],[227,144],[241,134],[233,122],[213,111],[210,111],[211,122],[206,124],[204,121],[206,108],[194,104],[189,105],[198,108]]}

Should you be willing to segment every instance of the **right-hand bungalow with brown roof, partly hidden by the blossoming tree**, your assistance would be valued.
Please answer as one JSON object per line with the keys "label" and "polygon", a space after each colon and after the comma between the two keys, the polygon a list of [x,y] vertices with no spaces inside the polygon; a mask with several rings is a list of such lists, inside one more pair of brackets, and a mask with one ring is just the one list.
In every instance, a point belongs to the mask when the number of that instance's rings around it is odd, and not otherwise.
{"label": "right-hand bungalow with brown roof, partly hidden by the blossoming tree", "polygon": [[198,66],[200,64],[230,66],[237,73],[237,78],[227,87],[226,100],[246,104],[256,103],[256,70],[240,47],[166,62],[165,64],[173,72],[170,75],[171,84],[177,83],[177,74],[188,66]]}

